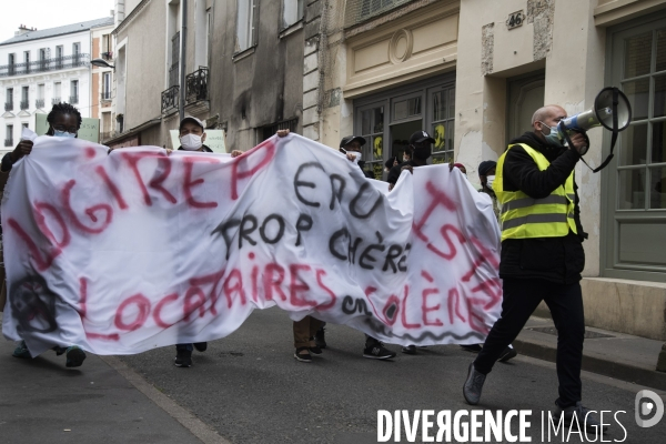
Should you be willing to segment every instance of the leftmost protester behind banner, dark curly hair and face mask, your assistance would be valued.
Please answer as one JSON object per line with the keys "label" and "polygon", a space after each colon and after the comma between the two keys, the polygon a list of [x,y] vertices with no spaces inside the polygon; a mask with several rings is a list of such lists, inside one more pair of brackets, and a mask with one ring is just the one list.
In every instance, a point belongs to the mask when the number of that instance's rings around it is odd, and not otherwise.
{"label": "leftmost protester behind banner, dark curly hair and face mask", "polygon": [[[57,103],[51,109],[49,115],[47,115],[47,122],[49,122],[47,135],[53,135],[57,138],[77,138],[79,129],[81,128],[82,119],[79,110],[71,104]],[[0,167],[0,194],[3,193],[4,185],[7,184],[7,180],[9,178],[9,172],[11,171],[13,164],[24,155],[29,155],[32,152],[32,144],[33,143],[30,140],[21,140],[12,152],[2,158],[2,165]],[[0,271],[0,274],[2,276],[4,275],[3,270]],[[62,329],[60,325],[58,327]],[[65,337],[67,334],[62,336]],[[74,344],[53,344],[52,350],[58,356],[61,354],[65,355],[64,365],[67,367],[81,366],[85,360],[85,352],[80,346]],[[12,356],[22,359],[32,357],[26,341],[20,342],[20,344],[14,349]]]}

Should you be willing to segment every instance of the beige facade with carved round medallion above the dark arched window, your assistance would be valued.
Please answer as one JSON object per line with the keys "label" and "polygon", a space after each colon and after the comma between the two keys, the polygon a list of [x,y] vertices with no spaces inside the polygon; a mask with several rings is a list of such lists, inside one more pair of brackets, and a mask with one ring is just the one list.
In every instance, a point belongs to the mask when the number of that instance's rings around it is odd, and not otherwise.
{"label": "beige facade with carved round medallion above the dark arched window", "polygon": [[304,131],[333,148],[354,132],[354,99],[451,72],[458,52],[460,0],[414,1],[351,29],[344,3],[330,6],[320,42],[321,133]]}

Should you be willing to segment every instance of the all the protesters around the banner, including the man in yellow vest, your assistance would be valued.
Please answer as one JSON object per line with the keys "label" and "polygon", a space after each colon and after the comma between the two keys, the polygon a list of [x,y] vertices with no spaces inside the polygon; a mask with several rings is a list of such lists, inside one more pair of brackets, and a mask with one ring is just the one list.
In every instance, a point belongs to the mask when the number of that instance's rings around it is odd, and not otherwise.
{"label": "all the protesters around the banner, including the man in yellow vest", "polygon": [[[495,322],[484,344],[465,345],[464,349],[478,353],[468,366],[463,395],[467,403],[478,404],[487,375],[497,361],[507,361],[516,355],[511,343],[518,335],[529,315],[542,302],[548,305],[558,331],[557,377],[559,382],[556,408],[565,421],[574,416],[586,417],[588,431],[603,427],[588,414],[581,403],[581,365],[584,340],[584,313],[581,291],[581,273],[585,265],[583,241],[586,233],[581,225],[577,185],[574,168],[585,152],[587,139],[584,134],[571,137],[571,144],[564,145],[557,135],[557,123],[565,119],[566,111],[558,105],[547,105],[535,111],[532,131],[512,140],[497,161],[486,160],[477,168],[481,193],[490,196],[493,210],[502,231],[500,276],[503,280],[502,314]],[[68,104],[58,103],[48,114],[47,135],[75,138],[81,127],[81,114]],[[193,117],[180,122],[179,150],[211,152],[204,144],[203,123]],[[286,131],[279,131],[284,137]],[[385,163],[389,189],[392,190],[403,171],[427,164],[435,140],[426,131],[416,131],[408,145],[398,157]],[[350,161],[363,169],[362,137],[345,137],[340,150]],[[0,167],[0,195],[7,183],[12,165],[22,157],[29,155],[32,142],[21,140],[16,149],[2,158]],[[110,150],[111,151],[111,150]],[[241,155],[233,151],[232,157]],[[461,163],[450,165],[466,174]],[[367,173],[366,175],[373,175]],[[374,179],[374,176],[373,176]],[[6,254],[6,258],[11,258]],[[4,270],[0,271],[4,282]],[[3,284],[2,293],[7,289]],[[0,303],[2,297],[0,297]],[[299,362],[311,362],[326,347],[323,322],[305,316],[293,323],[294,357]],[[68,367],[80,366],[85,352],[77,344],[53,344],[58,355],[64,354]],[[178,344],[175,365],[192,365],[192,352],[204,352],[205,342]],[[415,354],[417,347],[408,345],[403,353]],[[363,356],[375,360],[394,359],[379,340],[366,335]],[[22,341],[13,352],[17,357],[30,357],[30,351]]]}

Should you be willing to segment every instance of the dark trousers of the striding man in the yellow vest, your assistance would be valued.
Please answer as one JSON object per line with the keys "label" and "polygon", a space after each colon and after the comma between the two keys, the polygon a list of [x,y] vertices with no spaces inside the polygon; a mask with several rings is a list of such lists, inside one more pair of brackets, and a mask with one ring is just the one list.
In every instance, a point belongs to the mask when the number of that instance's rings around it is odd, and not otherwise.
{"label": "dark trousers of the striding man in the yellow vest", "polygon": [[488,374],[493,365],[511,344],[543,300],[551,309],[557,329],[557,380],[559,398],[565,408],[581,401],[581,363],[585,316],[581,284],[556,284],[543,280],[505,279],[502,316],[488,333],[474,367]]}

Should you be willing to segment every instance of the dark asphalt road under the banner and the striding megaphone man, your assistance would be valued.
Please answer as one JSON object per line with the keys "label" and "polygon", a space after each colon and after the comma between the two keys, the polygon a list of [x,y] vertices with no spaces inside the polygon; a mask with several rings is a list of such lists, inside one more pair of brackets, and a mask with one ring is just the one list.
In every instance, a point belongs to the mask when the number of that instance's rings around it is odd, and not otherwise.
{"label": "dark asphalt road under the banner and the striding megaphone man", "polygon": [[[345,326],[329,325],[326,341],[329,349],[321,357],[310,364],[297,362],[291,320],[271,309],[255,311],[234,334],[209,343],[205,353],[194,352],[190,369],[173,365],[173,347],[122,360],[239,444],[375,443],[379,410],[407,410],[411,414],[415,410],[450,410],[454,415],[471,408],[462,396],[462,384],[474,355],[455,345],[420,349],[415,356],[390,345],[398,352],[391,362],[362,357],[363,334]],[[652,428],[636,425],[634,401],[643,387],[589,373],[584,373],[583,384],[584,405],[609,412],[604,416],[610,424],[605,442],[666,441],[666,417]],[[543,431],[542,412],[552,411],[556,397],[555,366],[518,356],[495,366],[476,408],[531,410],[527,435],[532,442],[582,442],[578,433],[568,435],[567,431],[563,440],[562,433],[556,437],[552,432],[548,440]],[[431,434],[436,431],[435,426]],[[515,421],[512,431],[518,433]],[[404,428],[401,437],[407,442]],[[594,440],[594,434],[588,434],[583,442]]]}

